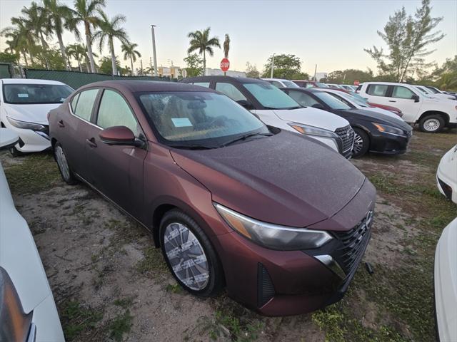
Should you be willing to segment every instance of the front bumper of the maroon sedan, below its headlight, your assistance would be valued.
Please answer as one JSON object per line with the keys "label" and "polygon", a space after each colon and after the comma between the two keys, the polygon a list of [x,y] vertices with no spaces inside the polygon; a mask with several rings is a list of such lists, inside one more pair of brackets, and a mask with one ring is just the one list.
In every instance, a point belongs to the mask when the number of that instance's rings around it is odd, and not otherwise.
{"label": "front bumper of the maroon sedan, below its headlight", "polygon": [[[217,236],[216,250],[229,296],[266,316],[304,314],[341,299],[370,239],[371,223],[368,227],[363,224],[366,213],[373,210],[373,197],[374,188],[366,182],[347,209],[319,222],[321,227],[314,228],[326,227],[334,237],[319,249],[276,251],[260,247],[236,232]],[[331,231],[329,226],[339,232]],[[324,255],[338,263],[343,276],[318,259]]]}

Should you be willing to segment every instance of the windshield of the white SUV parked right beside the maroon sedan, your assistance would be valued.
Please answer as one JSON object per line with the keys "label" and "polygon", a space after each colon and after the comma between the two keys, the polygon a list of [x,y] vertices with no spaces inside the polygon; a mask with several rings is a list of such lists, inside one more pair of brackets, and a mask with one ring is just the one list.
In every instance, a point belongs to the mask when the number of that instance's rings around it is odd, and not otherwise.
{"label": "windshield of the white SUV parked right beside the maroon sedan", "polygon": [[243,87],[246,88],[266,109],[290,109],[300,107],[300,105],[286,93],[275,86],[271,86],[270,83],[243,83]]}

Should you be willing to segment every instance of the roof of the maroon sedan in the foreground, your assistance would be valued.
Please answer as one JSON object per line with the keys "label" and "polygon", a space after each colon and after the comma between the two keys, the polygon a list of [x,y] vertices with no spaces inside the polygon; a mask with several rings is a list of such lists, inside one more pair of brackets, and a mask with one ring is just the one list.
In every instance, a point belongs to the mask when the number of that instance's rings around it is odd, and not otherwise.
{"label": "roof of the maroon sedan in the foreground", "polygon": [[101,81],[89,83],[86,86],[82,86],[79,89],[83,88],[94,88],[94,87],[109,87],[121,91],[130,91],[131,93],[137,92],[161,92],[161,91],[199,91],[214,93],[215,91],[209,88],[193,86],[186,83],[178,82],[166,82],[166,81],[134,81],[134,80],[116,80],[116,81]]}

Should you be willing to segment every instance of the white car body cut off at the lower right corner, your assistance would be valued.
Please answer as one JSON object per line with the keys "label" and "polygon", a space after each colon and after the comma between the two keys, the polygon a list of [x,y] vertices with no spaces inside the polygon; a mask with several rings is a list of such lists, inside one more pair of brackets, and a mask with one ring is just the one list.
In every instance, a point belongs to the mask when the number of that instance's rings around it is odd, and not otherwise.
{"label": "white car body cut off at the lower right corner", "polygon": [[457,218],[443,230],[435,252],[435,306],[439,341],[457,341]]}

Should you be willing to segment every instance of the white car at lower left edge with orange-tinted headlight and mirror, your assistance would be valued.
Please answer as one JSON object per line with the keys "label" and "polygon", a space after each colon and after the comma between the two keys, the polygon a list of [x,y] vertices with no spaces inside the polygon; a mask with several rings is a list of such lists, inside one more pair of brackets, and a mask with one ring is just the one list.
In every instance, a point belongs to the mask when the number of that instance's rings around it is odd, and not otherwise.
{"label": "white car at lower left edge with orange-tinted headlight and mirror", "polygon": [[[0,148],[18,135],[0,128]],[[0,165],[0,340],[65,341],[46,273],[27,222],[14,207]]]}

